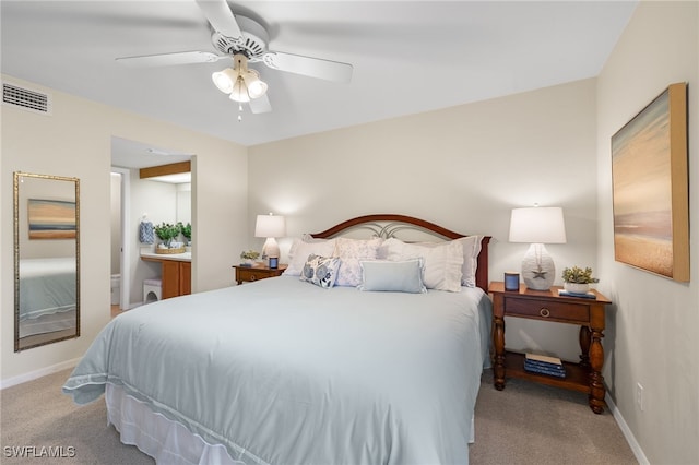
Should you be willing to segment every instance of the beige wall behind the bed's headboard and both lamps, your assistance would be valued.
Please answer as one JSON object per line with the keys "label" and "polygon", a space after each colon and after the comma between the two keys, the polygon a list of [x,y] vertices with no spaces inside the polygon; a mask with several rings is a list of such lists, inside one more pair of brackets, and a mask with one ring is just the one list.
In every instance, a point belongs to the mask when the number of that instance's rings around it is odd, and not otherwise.
{"label": "beige wall behind the bed's headboard and both lamps", "polygon": [[[548,247],[558,269],[594,267],[595,111],[595,81],[585,80],[253,146],[250,216],[287,215],[291,237],[369,213],[491,235],[490,278],[501,281],[528,249],[508,243],[510,210],[538,202],[564,207],[568,243]],[[507,324],[512,348],[578,359],[572,325]]]}

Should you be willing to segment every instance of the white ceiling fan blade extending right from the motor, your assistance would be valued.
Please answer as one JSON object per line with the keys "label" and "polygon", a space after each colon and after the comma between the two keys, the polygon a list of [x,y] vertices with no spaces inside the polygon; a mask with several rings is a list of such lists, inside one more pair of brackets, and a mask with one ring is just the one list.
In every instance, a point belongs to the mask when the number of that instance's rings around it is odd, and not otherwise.
{"label": "white ceiling fan blade extending right from the motor", "polygon": [[352,64],[300,55],[269,51],[262,57],[268,67],[288,71],[289,73],[323,79],[327,81],[348,83],[352,81]]}

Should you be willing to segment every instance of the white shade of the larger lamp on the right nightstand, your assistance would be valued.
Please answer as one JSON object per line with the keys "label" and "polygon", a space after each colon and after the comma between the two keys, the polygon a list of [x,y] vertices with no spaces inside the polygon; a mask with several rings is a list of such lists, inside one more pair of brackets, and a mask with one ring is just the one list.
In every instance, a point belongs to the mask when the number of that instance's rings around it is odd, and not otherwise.
{"label": "white shade of the larger lamp on the right nightstand", "polygon": [[566,243],[562,208],[559,206],[512,208],[510,242]]}

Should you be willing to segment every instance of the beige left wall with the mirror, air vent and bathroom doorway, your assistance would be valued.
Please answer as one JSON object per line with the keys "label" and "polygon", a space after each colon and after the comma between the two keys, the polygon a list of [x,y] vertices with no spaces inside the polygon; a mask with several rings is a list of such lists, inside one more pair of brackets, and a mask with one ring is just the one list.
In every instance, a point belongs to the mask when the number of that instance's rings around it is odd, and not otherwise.
{"label": "beige left wall with the mirror, air vent and bathroom doorway", "polygon": [[[196,154],[192,216],[198,238],[192,287],[229,285],[230,265],[247,247],[247,150],[240,145],[123,112],[85,99],[24,83],[50,93],[52,115],[3,105],[1,109],[0,347],[1,379],[17,380],[81,357],[109,320],[110,144],[111,136]],[[12,172],[16,170],[80,178],[82,336],[15,354],[13,351]],[[211,225],[208,227],[208,225]],[[135,233],[134,233],[135,234]],[[224,239],[222,239],[222,237]]]}

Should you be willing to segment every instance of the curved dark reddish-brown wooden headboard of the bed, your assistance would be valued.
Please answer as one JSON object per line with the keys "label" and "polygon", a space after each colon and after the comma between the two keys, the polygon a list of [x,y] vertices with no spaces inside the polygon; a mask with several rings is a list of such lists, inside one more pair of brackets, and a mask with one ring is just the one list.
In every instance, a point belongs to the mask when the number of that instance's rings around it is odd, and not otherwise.
{"label": "curved dark reddish-brown wooden headboard of the bed", "polygon": [[[411,229],[417,229],[426,231],[431,236],[443,239],[459,239],[466,237],[459,233],[454,233],[447,228],[443,228],[434,223],[426,222],[424,219],[414,218],[406,215],[393,215],[393,214],[376,214],[358,216],[356,218],[347,219],[339,225],[325,229],[322,233],[311,234],[311,237],[318,239],[329,239],[335,236],[343,235],[352,229],[368,229],[372,233],[372,236],[388,239],[390,237],[396,237],[396,233]],[[476,286],[484,291],[488,291],[488,243],[490,242],[490,236],[484,236],[481,240],[481,253],[478,253],[477,269],[476,269]]]}

